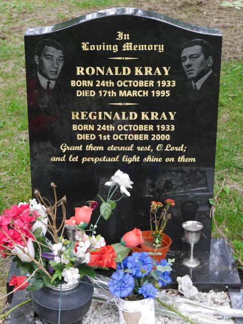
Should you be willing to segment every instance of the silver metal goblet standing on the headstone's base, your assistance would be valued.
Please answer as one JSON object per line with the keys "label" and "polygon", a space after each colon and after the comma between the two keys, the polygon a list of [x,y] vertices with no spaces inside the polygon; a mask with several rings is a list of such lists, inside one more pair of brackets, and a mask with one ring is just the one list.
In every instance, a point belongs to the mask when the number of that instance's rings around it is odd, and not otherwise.
{"label": "silver metal goblet standing on the headstone's base", "polygon": [[191,245],[191,254],[189,258],[183,260],[183,264],[187,267],[197,267],[200,264],[200,261],[196,258],[193,258],[193,248],[201,235],[201,230],[204,228],[204,225],[196,221],[187,221],[182,224],[185,233],[185,240]]}

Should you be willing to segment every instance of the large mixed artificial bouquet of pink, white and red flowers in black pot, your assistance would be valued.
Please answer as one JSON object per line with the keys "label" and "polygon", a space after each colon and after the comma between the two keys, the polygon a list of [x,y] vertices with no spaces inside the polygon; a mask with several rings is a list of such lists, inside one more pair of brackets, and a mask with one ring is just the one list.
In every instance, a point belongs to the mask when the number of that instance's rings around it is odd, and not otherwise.
{"label": "large mixed artificial bouquet of pink, white and red flowers in black pot", "polygon": [[[116,206],[116,201],[111,200],[114,192],[119,188],[121,197],[130,195],[127,188],[132,188],[131,184],[129,176],[120,170],[105,183],[110,190],[106,200],[100,197],[100,217],[109,218]],[[84,275],[94,277],[94,267],[116,268],[117,254],[113,246],[107,246],[105,239],[96,235],[100,217],[95,225],[86,229],[93,210],[98,207],[97,202],[88,201],[89,206],[77,208],[75,216],[66,220],[66,197],[57,200],[56,185],[52,183],[51,186],[55,195],[53,206],[47,205],[48,200],[35,190],[37,200],[30,199],[29,204],[14,205],[0,216],[0,252],[4,257],[16,255],[14,261],[21,268],[21,274],[29,274],[28,277],[13,276],[10,279],[10,285],[15,286],[14,291],[57,287],[62,282],[73,285]],[[63,214],[59,228],[56,224],[58,207],[62,208]],[[77,225],[76,241],[63,237],[65,222]],[[46,232],[49,232],[52,241],[46,237]]]}

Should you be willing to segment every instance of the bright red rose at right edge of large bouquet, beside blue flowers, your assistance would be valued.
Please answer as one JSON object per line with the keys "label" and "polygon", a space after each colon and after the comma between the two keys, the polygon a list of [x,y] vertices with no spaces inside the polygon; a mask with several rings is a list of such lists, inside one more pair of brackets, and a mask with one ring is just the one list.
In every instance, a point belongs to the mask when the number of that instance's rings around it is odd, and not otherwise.
{"label": "bright red rose at right edge of large bouquet, beside blue flowers", "polygon": [[116,258],[115,250],[111,245],[102,247],[99,251],[90,253],[90,262],[88,263],[91,267],[107,267],[116,268],[116,262],[113,260]]}

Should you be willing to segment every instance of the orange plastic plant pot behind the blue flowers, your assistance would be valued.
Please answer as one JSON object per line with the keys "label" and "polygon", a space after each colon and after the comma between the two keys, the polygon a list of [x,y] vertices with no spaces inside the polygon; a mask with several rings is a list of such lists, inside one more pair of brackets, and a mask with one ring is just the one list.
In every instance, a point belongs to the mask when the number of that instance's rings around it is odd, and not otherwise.
{"label": "orange plastic plant pot behind the blue flowers", "polygon": [[[148,240],[150,242],[153,241],[153,237],[151,236],[151,231],[142,231],[142,237],[143,240]],[[161,255],[155,255],[154,259],[155,260],[162,260],[162,259],[166,259],[166,254],[170,249],[172,240],[170,238],[170,236],[164,234],[163,238],[162,238],[162,247],[158,248],[156,250],[156,253],[161,253]],[[142,243],[141,245],[138,245],[134,248],[131,248],[133,252],[155,252],[154,248],[148,247],[147,245],[145,245],[144,243]]]}

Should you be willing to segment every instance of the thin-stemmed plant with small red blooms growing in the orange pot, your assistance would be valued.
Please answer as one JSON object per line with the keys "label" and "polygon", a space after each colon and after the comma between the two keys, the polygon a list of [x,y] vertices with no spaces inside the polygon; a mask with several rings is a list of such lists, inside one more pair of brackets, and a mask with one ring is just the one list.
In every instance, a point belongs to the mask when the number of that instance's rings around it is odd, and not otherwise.
{"label": "thin-stemmed plant with small red blooms growing in the orange pot", "polygon": [[156,247],[161,245],[164,230],[169,219],[171,218],[171,214],[168,213],[169,208],[171,206],[175,206],[175,201],[172,199],[167,199],[165,203],[166,206],[162,209],[159,216],[157,215],[157,213],[158,210],[163,207],[163,204],[160,203],[160,201],[151,201],[150,205],[150,230],[154,245]]}

